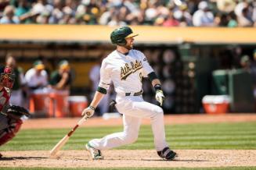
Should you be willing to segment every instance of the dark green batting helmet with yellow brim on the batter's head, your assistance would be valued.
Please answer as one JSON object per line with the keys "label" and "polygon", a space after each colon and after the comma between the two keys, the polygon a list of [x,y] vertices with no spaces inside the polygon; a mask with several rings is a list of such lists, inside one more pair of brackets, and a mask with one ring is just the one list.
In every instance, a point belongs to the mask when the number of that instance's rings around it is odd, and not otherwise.
{"label": "dark green batting helmet with yellow brim on the batter's head", "polygon": [[138,34],[134,34],[132,32],[132,29],[130,27],[124,26],[114,30],[110,35],[110,39],[112,44],[124,46],[126,44],[125,38],[135,37],[137,35]]}

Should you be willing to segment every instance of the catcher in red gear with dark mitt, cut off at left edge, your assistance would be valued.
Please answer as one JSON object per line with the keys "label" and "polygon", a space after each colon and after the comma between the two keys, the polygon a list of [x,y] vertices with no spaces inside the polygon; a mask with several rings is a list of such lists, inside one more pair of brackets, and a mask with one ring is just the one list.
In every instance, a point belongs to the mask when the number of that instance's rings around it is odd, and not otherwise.
{"label": "catcher in red gear with dark mitt, cut off at left edge", "polygon": [[12,140],[19,132],[23,115],[30,115],[26,108],[9,105],[14,78],[15,75],[9,67],[5,67],[0,75],[0,146]]}

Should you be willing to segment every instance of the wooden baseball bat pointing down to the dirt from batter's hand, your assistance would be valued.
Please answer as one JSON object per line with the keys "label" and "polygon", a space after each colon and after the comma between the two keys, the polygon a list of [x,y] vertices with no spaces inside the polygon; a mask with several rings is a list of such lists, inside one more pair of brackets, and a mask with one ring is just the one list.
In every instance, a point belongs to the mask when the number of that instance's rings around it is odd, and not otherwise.
{"label": "wooden baseball bat pointing down to the dirt from batter's hand", "polygon": [[52,151],[50,151],[50,155],[51,156],[55,156],[57,154],[57,152],[60,150],[61,147],[64,146],[65,143],[67,143],[67,140],[70,139],[70,136],[74,133],[74,131],[81,126],[81,124],[83,122],[85,122],[87,120],[87,115],[85,115],[82,119],[79,120],[79,122],[77,123],[76,126],[74,126],[73,129],[70,130],[69,133],[67,133],[67,135],[65,135],[63,137],[63,139],[59,140],[59,142],[55,145],[55,147],[52,148]]}

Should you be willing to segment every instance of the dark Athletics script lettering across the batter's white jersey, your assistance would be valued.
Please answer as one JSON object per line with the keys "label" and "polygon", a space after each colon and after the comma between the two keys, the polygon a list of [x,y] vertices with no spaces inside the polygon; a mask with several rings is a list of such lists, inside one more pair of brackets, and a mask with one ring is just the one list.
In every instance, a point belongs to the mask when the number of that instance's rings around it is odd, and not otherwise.
{"label": "dark Athletics script lettering across the batter's white jersey", "polygon": [[142,62],[135,60],[135,62],[125,63],[124,66],[121,67],[121,80],[126,80],[126,78],[135,73],[137,70],[142,69]]}

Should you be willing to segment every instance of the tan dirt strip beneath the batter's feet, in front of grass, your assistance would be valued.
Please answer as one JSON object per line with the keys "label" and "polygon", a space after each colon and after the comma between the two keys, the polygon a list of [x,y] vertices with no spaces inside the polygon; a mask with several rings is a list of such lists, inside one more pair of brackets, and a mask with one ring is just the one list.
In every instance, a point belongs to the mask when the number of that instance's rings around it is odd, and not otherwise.
{"label": "tan dirt strip beneath the batter's feet, in front of grass", "polygon": [[[60,151],[60,158],[49,158],[48,151],[3,152],[1,167],[227,167],[256,166],[256,151],[178,150],[175,161],[161,160],[155,151],[104,151],[105,160],[92,161],[86,151]],[[146,155],[146,157],[145,157]]]}

